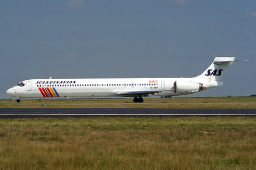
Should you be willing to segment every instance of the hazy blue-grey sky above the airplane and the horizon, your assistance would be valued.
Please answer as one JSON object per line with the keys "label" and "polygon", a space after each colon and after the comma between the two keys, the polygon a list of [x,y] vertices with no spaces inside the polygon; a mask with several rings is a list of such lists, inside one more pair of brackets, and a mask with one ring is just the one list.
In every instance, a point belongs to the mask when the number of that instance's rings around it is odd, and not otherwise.
{"label": "hazy blue-grey sky above the airplane and the horizon", "polygon": [[195,77],[215,56],[249,62],[190,96],[249,96],[255,47],[254,0],[0,0],[0,98],[26,79]]}

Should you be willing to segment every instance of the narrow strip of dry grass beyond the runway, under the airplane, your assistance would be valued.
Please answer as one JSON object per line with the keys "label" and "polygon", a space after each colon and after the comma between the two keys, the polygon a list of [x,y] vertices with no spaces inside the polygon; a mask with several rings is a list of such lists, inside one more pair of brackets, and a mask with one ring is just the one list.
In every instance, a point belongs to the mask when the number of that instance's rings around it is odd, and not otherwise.
{"label": "narrow strip of dry grass beyond the runway, under the airplane", "polygon": [[126,99],[21,99],[1,100],[0,107],[16,108],[256,108],[256,97],[145,98],[143,103]]}

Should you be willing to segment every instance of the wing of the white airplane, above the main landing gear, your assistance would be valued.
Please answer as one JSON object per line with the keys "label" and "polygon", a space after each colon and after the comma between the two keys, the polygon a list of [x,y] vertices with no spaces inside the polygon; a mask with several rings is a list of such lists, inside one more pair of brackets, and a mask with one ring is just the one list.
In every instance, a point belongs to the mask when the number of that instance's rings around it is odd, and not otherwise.
{"label": "wing of the white airplane, above the main landing gear", "polygon": [[155,95],[158,94],[159,92],[163,92],[163,91],[170,91],[170,90],[126,90],[126,91],[117,91],[116,95],[117,96],[138,96],[138,95],[142,95],[142,96],[148,96],[148,95]]}

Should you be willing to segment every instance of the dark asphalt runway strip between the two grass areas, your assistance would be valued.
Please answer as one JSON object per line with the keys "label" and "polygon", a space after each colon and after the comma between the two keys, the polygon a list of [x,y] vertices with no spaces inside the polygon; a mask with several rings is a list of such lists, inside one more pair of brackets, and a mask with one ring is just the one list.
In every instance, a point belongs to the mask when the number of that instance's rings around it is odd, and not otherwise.
{"label": "dark asphalt runway strip between the two grass areas", "polygon": [[0,118],[256,116],[256,109],[0,108]]}

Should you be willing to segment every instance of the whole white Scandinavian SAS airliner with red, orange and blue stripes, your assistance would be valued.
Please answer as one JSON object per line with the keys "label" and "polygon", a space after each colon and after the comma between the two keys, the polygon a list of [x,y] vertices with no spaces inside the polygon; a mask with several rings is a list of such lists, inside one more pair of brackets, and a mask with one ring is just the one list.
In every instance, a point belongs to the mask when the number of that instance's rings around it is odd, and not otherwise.
{"label": "whole white Scandinavian SAS airliner with red, orange and blue stripes", "polygon": [[59,97],[133,97],[134,103],[142,103],[142,97],[188,95],[221,87],[220,78],[234,62],[235,57],[215,57],[194,78],[30,79],[19,82],[6,94],[17,97],[18,103],[20,98]]}

